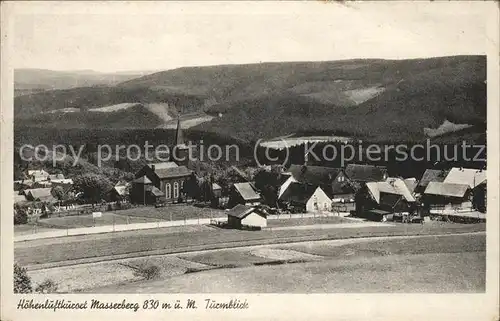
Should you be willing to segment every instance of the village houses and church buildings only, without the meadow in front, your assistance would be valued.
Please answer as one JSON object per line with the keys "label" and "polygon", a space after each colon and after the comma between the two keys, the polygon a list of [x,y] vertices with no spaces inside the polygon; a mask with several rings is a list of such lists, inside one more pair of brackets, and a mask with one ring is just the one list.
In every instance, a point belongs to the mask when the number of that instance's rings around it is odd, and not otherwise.
{"label": "village houses and church buildings only, without the meadow in front", "polygon": [[[486,210],[486,170],[451,168],[428,169],[417,178],[389,177],[382,166],[349,164],[345,168],[291,165],[273,180],[273,197],[265,195],[254,181],[234,167],[241,180],[228,191],[212,179],[199,178],[190,169],[188,148],[180,126],[176,133],[176,153],[181,161],[146,164],[131,182],[119,182],[109,198],[141,205],[164,205],[191,199],[209,201],[228,208],[235,226],[265,224],[269,209],[298,213],[355,214],[376,220],[394,215],[420,215]],[[268,169],[270,171],[270,169]],[[202,182],[202,183],[200,183]],[[71,189],[73,181],[44,170],[30,170],[27,179],[14,182],[15,202],[56,201],[54,187]],[[193,191],[195,191],[193,193]],[[264,210],[266,205],[268,210]],[[235,223],[237,222],[237,223]]]}

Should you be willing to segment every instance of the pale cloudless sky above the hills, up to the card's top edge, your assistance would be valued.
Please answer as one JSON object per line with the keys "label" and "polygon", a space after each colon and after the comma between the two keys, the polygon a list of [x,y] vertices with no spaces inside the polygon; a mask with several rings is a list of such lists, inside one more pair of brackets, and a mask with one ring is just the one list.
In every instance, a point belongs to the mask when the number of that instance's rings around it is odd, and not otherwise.
{"label": "pale cloudless sky above the hills, up to the card's top edge", "polygon": [[101,72],[484,54],[484,3],[99,2],[12,6],[13,65]]}

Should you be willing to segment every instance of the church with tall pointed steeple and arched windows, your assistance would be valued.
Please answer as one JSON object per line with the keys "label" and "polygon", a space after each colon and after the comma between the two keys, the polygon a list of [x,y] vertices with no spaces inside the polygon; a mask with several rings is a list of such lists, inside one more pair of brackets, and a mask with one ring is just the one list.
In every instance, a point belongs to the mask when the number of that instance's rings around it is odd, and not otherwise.
{"label": "church with tall pointed steeple and arched windows", "polygon": [[180,119],[177,118],[174,161],[149,163],[141,168],[132,181],[130,200],[135,204],[177,203],[184,197],[184,182],[189,179],[189,149],[184,142]]}

